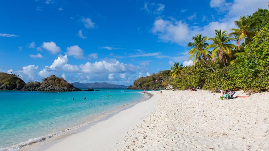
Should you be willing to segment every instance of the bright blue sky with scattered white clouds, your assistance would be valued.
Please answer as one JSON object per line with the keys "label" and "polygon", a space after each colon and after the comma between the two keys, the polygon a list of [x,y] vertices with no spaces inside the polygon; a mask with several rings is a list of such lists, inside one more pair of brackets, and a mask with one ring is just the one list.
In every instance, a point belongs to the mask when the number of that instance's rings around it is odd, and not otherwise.
{"label": "bright blue sky with scattered white clouds", "polygon": [[268,0],[10,0],[0,5],[0,72],[25,82],[132,85],[139,77],[192,65],[187,43],[229,30]]}

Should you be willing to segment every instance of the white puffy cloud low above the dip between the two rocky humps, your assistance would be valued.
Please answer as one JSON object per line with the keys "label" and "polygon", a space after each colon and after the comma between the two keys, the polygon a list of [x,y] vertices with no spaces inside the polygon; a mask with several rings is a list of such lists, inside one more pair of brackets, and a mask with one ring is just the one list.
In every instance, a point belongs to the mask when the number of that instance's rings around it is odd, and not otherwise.
{"label": "white puffy cloud low above the dip between the two rocky humps", "polygon": [[35,80],[36,78],[36,71],[38,70],[38,66],[29,65],[26,67],[22,67],[22,70],[18,70],[18,74],[22,77],[26,76],[27,80]]}

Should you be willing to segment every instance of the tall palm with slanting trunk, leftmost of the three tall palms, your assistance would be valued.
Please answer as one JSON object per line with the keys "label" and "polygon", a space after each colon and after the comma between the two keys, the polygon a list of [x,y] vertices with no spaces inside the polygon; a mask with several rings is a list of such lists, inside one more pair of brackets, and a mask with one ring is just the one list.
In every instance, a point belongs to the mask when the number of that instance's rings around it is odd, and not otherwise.
{"label": "tall palm with slanting trunk, leftmost of the three tall palms", "polygon": [[206,42],[207,37],[202,37],[202,34],[197,34],[195,37],[192,37],[192,39],[194,41],[188,43],[188,47],[193,47],[189,51],[189,60],[194,57],[193,64],[197,63],[198,61],[204,61],[205,64],[208,65],[208,67],[210,67],[215,72],[215,70],[208,64],[208,60],[211,60],[211,52],[205,49],[205,47],[208,45],[208,43]]}

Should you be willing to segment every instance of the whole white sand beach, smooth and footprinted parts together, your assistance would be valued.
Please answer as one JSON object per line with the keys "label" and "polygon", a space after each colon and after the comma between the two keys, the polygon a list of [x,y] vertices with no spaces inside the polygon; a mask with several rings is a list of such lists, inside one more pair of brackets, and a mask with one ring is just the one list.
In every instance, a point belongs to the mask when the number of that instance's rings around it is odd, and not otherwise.
{"label": "whole white sand beach, smooth and footprinted parts together", "polygon": [[27,150],[269,150],[269,92],[231,100],[204,90],[150,93],[84,131]]}

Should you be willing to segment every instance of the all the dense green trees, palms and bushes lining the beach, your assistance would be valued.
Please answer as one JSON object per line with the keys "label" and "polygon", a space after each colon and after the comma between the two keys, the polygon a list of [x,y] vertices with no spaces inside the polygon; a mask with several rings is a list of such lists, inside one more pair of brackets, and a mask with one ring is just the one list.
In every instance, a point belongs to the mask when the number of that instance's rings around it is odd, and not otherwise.
{"label": "all the dense green trees, palms and bushes lining the beach", "polygon": [[175,63],[171,67],[171,78],[162,79],[164,84],[152,82],[159,73],[139,78],[134,86],[163,88],[160,85],[169,83],[178,89],[268,91],[269,11],[258,9],[234,23],[236,28],[232,28],[231,33],[219,29],[212,38],[202,34],[194,36],[188,44],[193,65],[182,67]]}

